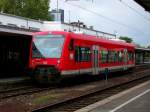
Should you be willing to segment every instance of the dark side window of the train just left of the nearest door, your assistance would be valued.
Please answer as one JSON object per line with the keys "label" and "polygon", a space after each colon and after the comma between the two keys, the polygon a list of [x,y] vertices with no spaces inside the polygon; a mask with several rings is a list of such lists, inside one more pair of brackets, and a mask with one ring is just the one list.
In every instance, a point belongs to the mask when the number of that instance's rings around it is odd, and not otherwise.
{"label": "dark side window of the train just left of the nearest door", "polygon": [[91,61],[91,50],[89,47],[75,47],[75,61],[89,62]]}

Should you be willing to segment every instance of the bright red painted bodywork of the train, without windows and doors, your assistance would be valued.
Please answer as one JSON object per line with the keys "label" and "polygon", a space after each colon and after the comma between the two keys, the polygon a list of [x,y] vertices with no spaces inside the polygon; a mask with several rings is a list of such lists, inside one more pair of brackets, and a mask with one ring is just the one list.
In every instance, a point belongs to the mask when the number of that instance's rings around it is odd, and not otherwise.
{"label": "bright red painted bodywork of the train, without windows and doors", "polygon": [[[64,31],[49,31],[49,32],[37,32],[33,35],[46,35],[46,34],[62,34],[65,36],[65,41],[62,49],[62,54],[60,59],[31,59],[30,60],[30,67],[35,69],[38,65],[53,65],[59,71],[62,70],[78,70],[84,68],[92,68],[92,62],[75,62],[74,59],[70,59],[69,54],[73,53],[74,51],[69,51],[68,46],[70,43],[70,39],[74,39],[74,46],[79,45],[82,47],[90,47],[92,49],[93,45],[99,45],[100,49],[115,49],[116,51],[122,50],[124,48],[128,49],[128,51],[134,52],[134,45],[125,43],[125,42],[117,42],[112,40],[107,40],[103,38],[96,38],[95,36],[90,35],[83,35],[83,34],[74,34],[71,32],[64,32]],[[100,60],[99,56],[99,60]],[[58,63],[58,60],[60,63]],[[44,64],[45,63],[45,64]],[[135,60],[128,61],[127,64],[134,64]],[[101,63],[99,62],[99,66],[103,67],[110,67],[110,66],[120,66],[124,65],[124,62],[117,62],[117,63]]]}

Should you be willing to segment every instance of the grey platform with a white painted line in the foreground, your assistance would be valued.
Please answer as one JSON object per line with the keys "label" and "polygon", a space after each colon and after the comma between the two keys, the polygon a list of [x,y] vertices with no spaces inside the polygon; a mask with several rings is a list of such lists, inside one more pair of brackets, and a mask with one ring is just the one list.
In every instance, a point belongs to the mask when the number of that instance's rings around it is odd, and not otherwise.
{"label": "grey platform with a white painted line in the foreground", "polygon": [[150,81],[75,112],[150,112]]}

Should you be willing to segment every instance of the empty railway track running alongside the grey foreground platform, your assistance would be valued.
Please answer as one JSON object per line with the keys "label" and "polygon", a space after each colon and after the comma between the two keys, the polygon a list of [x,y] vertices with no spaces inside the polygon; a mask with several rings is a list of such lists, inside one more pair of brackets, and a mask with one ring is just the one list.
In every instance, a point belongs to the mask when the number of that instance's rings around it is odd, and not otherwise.
{"label": "empty railway track running alongside the grey foreground platform", "polygon": [[37,110],[34,112],[39,112],[39,111],[40,112],[42,112],[42,111],[46,111],[46,112],[75,112],[78,109],[81,109],[81,108],[86,107],[90,104],[93,104],[95,102],[98,102],[100,100],[108,98],[112,95],[115,95],[119,92],[122,92],[124,90],[129,89],[129,88],[132,88],[132,87],[134,87],[138,84],[141,84],[145,81],[148,81],[148,80],[150,80],[150,77],[136,80],[133,82],[131,81],[131,82],[123,84],[123,85],[119,85],[116,87],[105,89],[103,91],[91,93],[89,95],[78,97],[76,99],[73,99],[73,100],[52,106],[52,107],[48,107],[45,109]]}

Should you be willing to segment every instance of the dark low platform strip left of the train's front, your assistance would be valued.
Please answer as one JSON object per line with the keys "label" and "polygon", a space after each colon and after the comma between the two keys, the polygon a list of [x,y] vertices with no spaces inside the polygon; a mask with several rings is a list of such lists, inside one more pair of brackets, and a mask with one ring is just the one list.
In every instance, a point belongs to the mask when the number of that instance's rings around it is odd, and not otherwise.
{"label": "dark low platform strip left of the train's front", "polygon": [[24,77],[1,78],[0,85],[22,83],[22,82],[27,82],[29,80],[30,80],[30,77],[25,77],[25,76]]}

